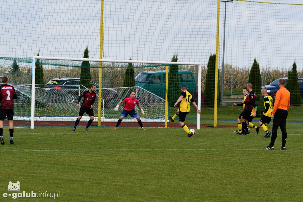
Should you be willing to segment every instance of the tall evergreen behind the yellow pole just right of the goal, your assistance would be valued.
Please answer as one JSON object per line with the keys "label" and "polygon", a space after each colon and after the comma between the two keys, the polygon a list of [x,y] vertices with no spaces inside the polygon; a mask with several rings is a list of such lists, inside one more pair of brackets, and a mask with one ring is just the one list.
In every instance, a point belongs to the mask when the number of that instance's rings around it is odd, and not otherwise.
{"label": "tall evergreen behind the yellow pole just right of the goal", "polygon": [[[216,54],[210,55],[207,64],[207,71],[205,76],[205,105],[209,107],[215,106],[215,72],[216,72]],[[219,70],[218,70],[219,75]],[[218,104],[221,100],[221,90],[219,85],[219,76],[218,76]]]}

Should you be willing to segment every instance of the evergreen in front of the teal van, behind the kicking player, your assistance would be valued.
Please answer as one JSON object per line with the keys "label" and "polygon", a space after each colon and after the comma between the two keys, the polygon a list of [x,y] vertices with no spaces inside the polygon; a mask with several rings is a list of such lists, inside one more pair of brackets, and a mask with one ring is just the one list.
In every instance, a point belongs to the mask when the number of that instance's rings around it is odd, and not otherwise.
{"label": "evergreen in front of the teal van, behind the kicking player", "polygon": [[[178,55],[174,54],[171,62],[178,62]],[[181,95],[180,90],[180,79],[179,79],[179,66],[171,65],[169,66],[168,75],[168,89],[167,89],[167,99],[168,105],[173,107]]]}

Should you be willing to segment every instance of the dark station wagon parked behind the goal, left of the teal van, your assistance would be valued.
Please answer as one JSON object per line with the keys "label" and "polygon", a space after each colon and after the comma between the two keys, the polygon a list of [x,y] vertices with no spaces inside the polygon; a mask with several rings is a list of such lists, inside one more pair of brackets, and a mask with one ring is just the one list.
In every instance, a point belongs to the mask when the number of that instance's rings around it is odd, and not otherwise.
{"label": "dark station wagon parked behind the goal, left of the teal van", "polygon": [[[79,78],[55,78],[45,85],[46,95],[55,103],[77,103],[80,93],[85,89],[79,85]],[[98,94],[99,85],[93,81],[91,84],[96,86],[95,92]],[[118,93],[114,89],[102,88],[102,98],[105,107],[112,107],[117,103]],[[62,98],[61,100],[59,98]],[[102,102],[103,103],[103,102]]]}

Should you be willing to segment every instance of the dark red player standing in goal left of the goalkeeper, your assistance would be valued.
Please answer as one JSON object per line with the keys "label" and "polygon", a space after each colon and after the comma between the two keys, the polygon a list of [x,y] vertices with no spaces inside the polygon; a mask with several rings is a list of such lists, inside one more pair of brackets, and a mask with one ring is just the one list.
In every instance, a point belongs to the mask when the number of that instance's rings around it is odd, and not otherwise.
{"label": "dark red player standing in goal left of the goalkeeper", "polygon": [[97,96],[97,94],[95,93],[95,89],[96,89],[96,86],[94,84],[92,84],[89,87],[88,91],[85,91],[84,93],[82,93],[79,96],[78,102],[76,105],[77,108],[79,107],[81,98],[84,97],[84,99],[83,99],[82,105],[79,110],[79,116],[75,121],[75,126],[72,129],[72,132],[74,132],[76,130],[76,127],[78,126],[78,123],[80,122],[80,120],[85,112],[86,112],[86,114],[88,114],[91,117],[90,120],[88,120],[87,125],[85,126],[86,132],[88,132],[88,127],[92,124],[93,120],[95,119],[94,111],[93,111],[93,104],[94,104],[96,96]]}

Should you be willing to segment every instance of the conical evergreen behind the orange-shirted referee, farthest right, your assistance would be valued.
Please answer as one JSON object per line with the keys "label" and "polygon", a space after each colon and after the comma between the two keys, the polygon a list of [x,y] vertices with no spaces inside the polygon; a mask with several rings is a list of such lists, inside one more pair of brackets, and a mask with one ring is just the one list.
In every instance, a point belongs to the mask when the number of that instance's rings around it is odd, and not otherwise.
{"label": "conical evergreen behind the orange-shirted referee, farthest right", "polygon": [[290,93],[290,104],[293,106],[300,106],[302,98],[300,96],[296,62],[292,65],[292,71],[288,71],[288,79],[285,88],[288,89]]}

